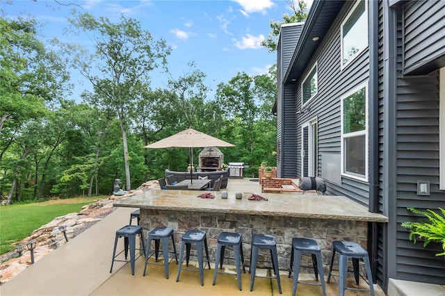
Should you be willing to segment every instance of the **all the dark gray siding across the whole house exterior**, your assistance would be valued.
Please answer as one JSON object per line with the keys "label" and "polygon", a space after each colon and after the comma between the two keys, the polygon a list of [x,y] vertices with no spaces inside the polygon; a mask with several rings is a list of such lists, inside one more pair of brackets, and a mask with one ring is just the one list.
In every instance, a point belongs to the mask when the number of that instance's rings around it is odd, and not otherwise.
{"label": "all the dark gray siding across the whole house exterior", "polygon": [[[439,115],[439,89],[445,88],[439,85],[439,68],[445,67],[445,1],[366,1],[369,6],[378,5],[376,10],[375,6],[369,9],[369,17],[375,17],[375,22],[369,22],[375,26],[370,31],[378,35],[378,45],[372,47],[370,41],[353,65],[342,70],[340,25],[354,3],[314,1],[291,65],[279,82],[279,88],[286,90],[282,92],[283,101],[289,104],[286,108],[298,113],[296,119],[289,117],[289,127],[296,130],[286,131],[295,135],[297,152],[283,154],[280,163],[283,167],[296,164],[296,176],[305,175],[300,156],[305,148],[302,125],[315,119],[317,173],[327,183],[327,194],[345,195],[389,217],[387,224],[369,225],[369,233],[374,233],[369,251],[377,262],[373,276],[378,284],[385,290],[389,278],[444,284],[445,261],[443,256],[435,256],[442,247],[414,244],[401,222],[421,219],[407,211],[408,206],[445,207],[445,191],[439,189],[439,154],[444,149],[439,142],[439,120],[444,116]],[[371,16],[373,11],[377,15]],[[319,27],[323,38],[312,56],[305,56],[307,48],[312,48],[310,38],[314,32],[320,33]],[[302,108],[301,83],[315,63],[318,93]],[[373,101],[378,103],[371,113],[376,135],[369,134],[369,150],[370,157],[373,148],[377,154],[376,160],[370,158],[369,162],[377,162],[370,166],[377,172],[369,172],[375,173],[375,180],[360,181],[341,176],[340,169],[333,168],[341,161],[341,97],[362,83],[372,88],[374,82],[376,89],[369,90],[368,99],[369,108]],[[282,127],[286,129],[287,124],[283,117]],[[282,171],[279,176],[286,174]],[[429,196],[417,195],[417,181],[430,181]]]}

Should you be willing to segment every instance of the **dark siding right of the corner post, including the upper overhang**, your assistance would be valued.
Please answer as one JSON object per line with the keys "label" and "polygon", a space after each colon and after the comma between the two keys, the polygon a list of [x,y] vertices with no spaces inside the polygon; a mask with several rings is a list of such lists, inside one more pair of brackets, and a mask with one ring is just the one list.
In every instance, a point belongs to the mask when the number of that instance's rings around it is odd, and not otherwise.
{"label": "dark siding right of the corner post, including the upper overhang", "polygon": [[[396,278],[444,284],[445,261],[435,256],[442,247],[413,244],[408,231],[400,226],[402,222],[419,220],[407,211],[408,206],[445,206],[445,192],[439,190],[438,69],[445,64],[438,62],[445,49],[445,1],[441,2],[411,1],[396,9],[397,70],[418,75],[399,74],[396,79],[397,201],[396,219],[390,223],[396,223]],[[441,39],[437,39],[438,34]],[[442,44],[442,49],[437,44]],[[416,183],[420,180],[430,181],[428,197],[416,195]]]}

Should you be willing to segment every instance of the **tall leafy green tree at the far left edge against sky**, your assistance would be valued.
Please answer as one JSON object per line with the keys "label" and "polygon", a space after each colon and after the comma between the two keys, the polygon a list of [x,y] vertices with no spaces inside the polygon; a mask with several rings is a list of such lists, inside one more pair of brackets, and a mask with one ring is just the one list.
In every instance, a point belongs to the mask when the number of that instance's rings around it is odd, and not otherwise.
{"label": "tall leafy green tree at the far left edge against sky", "polygon": [[19,17],[8,20],[0,17],[0,158],[8,155],[1,170],[10,180],[7,204],[16,190],[20,199],[19,185],[32,172],[29,161],[40,142],[38,138],[45,124],[48,106],[63,98],[69,91],[69,79],[62,60],[44,47],[36,37],[38,24],[33,18]]}

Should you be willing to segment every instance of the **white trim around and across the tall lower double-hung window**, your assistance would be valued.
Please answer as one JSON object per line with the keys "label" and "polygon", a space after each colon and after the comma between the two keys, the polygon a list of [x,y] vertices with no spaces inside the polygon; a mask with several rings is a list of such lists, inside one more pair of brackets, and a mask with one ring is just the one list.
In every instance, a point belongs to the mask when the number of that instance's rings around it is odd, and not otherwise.
{"label": "white trim around and across the tall lower double-hung window", "polygon": [[[364,88],[364,97],[365,97],[365,112],[366,112],[366,126],[364,131],[355,131],[353,133],[348,133],[347,135],[343,135],[343,99],[346,99],[347,97],[349,97],[351,94],[358,92],[359,90],[361,90],[362,88]],[[347,92],[346,94],[343,94],[343,96],[341,96],[341,104],[340,104],[340,116],[341,116],[341,120],[340,120],[340,124],[341,124],[341,176],[347,176],[349,178],[352,179],[357,179],[360,181],[368,181],[368,170],[369,170],[369,140],[368,140],[368,124],[369,124],[369,110],[368,110],[368,82],[366,83],[362,83],[361,85],[358,85],[356,88],[354,88],[353,90],[350,90],[349,92]],[[357,135],[364,135],[365,138],[365,170],[364,170],[364,177],[362,177],[361,175],[358,174],[351,174],[350,172],[345,172],[345,153],[344,153],[344,139],[345,138],[350,138],[353,136],[357,136]]]}

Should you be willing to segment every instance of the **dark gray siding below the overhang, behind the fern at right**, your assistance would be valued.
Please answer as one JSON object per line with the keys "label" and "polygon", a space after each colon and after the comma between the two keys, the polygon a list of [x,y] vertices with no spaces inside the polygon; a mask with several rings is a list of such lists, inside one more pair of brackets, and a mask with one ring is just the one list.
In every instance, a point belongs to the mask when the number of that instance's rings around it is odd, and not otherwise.
{"label": "dark gray siding below the overhang, behind the fern at right", "polygon": [[[416,195],[416,182],[431,182],[428,198]],[[398,279],[444,283],[439,244],[413,244],[400,224],[413,220],[408,206],[436,209],[445,204],[439,192],[439,77],[405,77],[397,82],[397,249]],[[394,222],[394,220],[393,220]]]}

